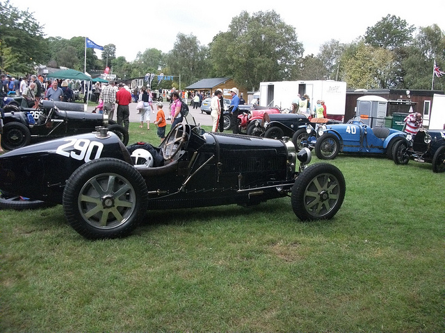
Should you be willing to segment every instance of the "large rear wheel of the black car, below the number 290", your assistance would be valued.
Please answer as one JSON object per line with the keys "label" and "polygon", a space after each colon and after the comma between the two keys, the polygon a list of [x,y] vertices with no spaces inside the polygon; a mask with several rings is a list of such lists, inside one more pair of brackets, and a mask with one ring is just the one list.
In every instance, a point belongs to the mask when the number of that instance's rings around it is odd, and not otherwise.
{"label": "large rear wheel of the black car, below the number 290", "polygon": [[127,236],[143,219],[147,205],[144,178],[133,166],[115,158],[81,165],[63,191],[67,221],[88,239]]}

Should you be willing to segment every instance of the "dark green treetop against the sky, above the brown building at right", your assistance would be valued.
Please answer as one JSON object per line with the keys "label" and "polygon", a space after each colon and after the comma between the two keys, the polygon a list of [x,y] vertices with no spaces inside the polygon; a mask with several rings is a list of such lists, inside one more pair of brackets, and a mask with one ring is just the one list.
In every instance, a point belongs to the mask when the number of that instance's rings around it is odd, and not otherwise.
{"label": "dark green treetop against the sky, above the brown building at right", "polygon": [[412,42],[414,30],[414,26],[408,26],[405,19],[388,14],[366,29],[364,42],[374,47],[394,50]]}

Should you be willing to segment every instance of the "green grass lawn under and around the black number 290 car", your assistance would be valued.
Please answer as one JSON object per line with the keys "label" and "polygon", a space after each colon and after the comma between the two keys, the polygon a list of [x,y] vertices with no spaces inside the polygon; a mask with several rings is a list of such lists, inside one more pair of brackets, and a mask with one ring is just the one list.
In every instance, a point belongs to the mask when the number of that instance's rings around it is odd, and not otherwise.
{"label": "green grass lawn under and around the black number 290 car", "polygon": [[[130,142],[159,144],[137,126]],[[331,221],[282,198],[149,212],[130,237],[87,241],[60,206],[1,211],[0,332],[443,332],[444,174],[331,163],[347,186]]]}

